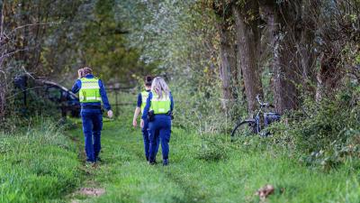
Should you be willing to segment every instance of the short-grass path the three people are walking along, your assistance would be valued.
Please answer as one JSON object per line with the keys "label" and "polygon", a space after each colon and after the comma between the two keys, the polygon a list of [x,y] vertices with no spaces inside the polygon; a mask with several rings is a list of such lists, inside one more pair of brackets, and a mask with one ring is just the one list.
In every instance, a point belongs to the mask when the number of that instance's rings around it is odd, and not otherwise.
{"label": "short-grass path the three people are walking along", "polygon": [[[143,155],[139,128],[130,127],[126,119],[105,122],[103,128],[103,162],[86,171],[83,187],[103,188],[105,194],[73,197],[80,202],[259,202],[254,193],[266,183],[275,186],[268,202],[360,200],[359,171],[346,166],[325,173],[285,154],[244,151],[230,144],[221,148],[226,159],[203,161],[198,159],[200,137],[179,129],[171,137],[170,165],[150,166]],[[82,141],[80,128],[70,133]]]}

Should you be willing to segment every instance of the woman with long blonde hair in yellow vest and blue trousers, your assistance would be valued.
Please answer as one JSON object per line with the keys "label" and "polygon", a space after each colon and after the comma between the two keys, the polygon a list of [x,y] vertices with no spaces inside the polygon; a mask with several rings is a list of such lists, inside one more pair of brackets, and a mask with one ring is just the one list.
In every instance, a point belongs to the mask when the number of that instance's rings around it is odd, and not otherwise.
{"label": "woman with long blonde hair in yellow vest and blue trousers", "polygon": [[168,165],[169,142],[171,134],[171,117],[174,109],[174,99],[170,89],[167,87],[164,78],[154,78],[151,85],[151,92],[141,116],[141,127],[148,119],[149,164],[156,164],[157,139],[161,139],[161,150],[163,152],[163,165]]}

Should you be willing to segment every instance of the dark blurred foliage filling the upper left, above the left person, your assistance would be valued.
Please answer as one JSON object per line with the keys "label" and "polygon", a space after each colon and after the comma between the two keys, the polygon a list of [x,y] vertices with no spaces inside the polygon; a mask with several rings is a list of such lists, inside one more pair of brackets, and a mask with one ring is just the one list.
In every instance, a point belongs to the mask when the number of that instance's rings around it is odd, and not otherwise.
{"label": "dark blurred foliage filling the upper left, above the left person", "polygon": [[134,86],[134,77],[156,72],[155,64],[139,59],[139,49],[130,48],[128,31],[115,22],[114,2],[0,1],[1,120],[4,110],[19,107],[8,98],[20,75],[70,85],[77,69],[90,66],[98,77]]}

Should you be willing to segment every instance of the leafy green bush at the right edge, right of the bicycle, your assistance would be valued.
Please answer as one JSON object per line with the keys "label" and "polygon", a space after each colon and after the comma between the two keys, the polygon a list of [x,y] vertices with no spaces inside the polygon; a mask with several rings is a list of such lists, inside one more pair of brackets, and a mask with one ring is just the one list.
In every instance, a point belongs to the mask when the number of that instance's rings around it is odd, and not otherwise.
{"label": "leafy green bush at the right edge, right of the bicycle", "polygon": [[308,100],[302,111],[284,115],[282,123],[269,128],[275,144],[298,152],[307,165],[326,170],[358,160],[360,106],[356,94],[356,88],[347,88],[320,103]]}

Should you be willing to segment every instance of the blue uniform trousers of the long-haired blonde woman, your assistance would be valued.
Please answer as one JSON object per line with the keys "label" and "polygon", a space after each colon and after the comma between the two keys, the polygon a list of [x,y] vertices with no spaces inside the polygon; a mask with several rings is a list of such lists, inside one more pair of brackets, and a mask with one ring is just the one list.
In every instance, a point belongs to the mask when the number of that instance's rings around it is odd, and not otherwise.
{"label": "blue uniform trousers of the long-haired blonde woman", "polygon": [[171,117],[169,115],[155,115],[154,121],[148,123],[148,137],[150,141],[150,157],[149,161],[155,161],[157,156],[158,143],[161,140],[161,151],[163,152],[163,160],[168,159],[169,142],[171,134]]}

